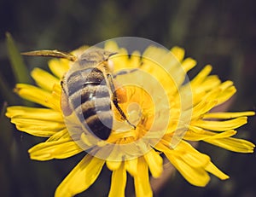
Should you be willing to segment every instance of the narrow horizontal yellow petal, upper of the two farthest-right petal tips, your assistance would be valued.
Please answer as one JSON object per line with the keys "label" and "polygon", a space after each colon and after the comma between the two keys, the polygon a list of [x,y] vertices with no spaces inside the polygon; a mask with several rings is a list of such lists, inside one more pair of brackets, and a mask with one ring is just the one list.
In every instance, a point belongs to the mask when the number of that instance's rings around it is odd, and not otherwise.
{"label": "narrow horizontal yellow petal, upper of the two farthest-right petal tips", "polygon": [[241,112],[241,113],[207,113],[204,119],[235,119],[241,116],[253,116],[254,112]]}

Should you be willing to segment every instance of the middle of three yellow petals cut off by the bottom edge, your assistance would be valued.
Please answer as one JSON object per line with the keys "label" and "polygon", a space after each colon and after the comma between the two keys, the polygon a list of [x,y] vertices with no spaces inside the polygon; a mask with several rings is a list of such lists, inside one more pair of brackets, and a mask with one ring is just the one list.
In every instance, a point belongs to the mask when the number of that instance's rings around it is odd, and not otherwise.
{"label": "middle of three yellow petals cut off by the bottom edge", "polygon": [[126,171],[124,162],[119,168],[112,172],[111,187],[108,197],[125,197]]}

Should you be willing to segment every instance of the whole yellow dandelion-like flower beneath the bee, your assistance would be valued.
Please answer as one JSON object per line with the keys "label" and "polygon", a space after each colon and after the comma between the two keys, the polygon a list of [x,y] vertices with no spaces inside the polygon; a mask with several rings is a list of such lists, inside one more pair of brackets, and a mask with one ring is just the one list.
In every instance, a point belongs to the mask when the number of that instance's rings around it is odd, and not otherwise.
{"label": "whole yellow dandelion-like flower beneath the bee", "polygon": [[[184,50],[174,47],[166,52],[148,47],[140,55],[127,55],[125,49],[108,42],[105,49],[117,51],[111,56],[114,73],[130,69],[116,77],[125,87],[127,101],[119,103],[136,129],[125,123],[116,109],[113,130],[107,141],[91,138],[72,117],[61,112],[61,79],[72,63],[62,59],[49,61],[52,74],[40,68],[32,70],[37,86],[17,84],[15,92],[42,107],[8,107],[6,115],[18,130],[33,136],[49,137],[29,149],[31,159],[66,159],[87,152],[55,191],[55,196],[73,196],[90,187],[107,165],[112,171],[108,196],[125,196],[127,172],[134,178],[137,196],[152,196],[152,177],[163,172],[163,157],[195,186],[203,187],[209,174],[229,178],[213,165],[207,154],[189,142],[208,142],[239,153],[253,153],[254,145],[233,137],[236,128],[247,123],[253,112],[211,113],[211,109],[236,93],[231,81],[222,83],[209,75],[207,65],[190,82],[186,72],[195,67],[192,58],[184,59]],[[80,50],[73,52],[75,55]],[[142,56],[142,57],[141,57]],[[132,78],[132,80],[131,80]],[[131,83],[132,82],[132,83]]]}

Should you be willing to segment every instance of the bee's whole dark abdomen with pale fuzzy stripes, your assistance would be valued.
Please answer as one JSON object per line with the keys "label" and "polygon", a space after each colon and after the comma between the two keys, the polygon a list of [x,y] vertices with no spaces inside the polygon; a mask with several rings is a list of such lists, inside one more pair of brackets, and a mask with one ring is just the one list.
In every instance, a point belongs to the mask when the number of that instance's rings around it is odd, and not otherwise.
{"label": "bee's whole dark abdomen with pale fuzzy stripes", "polygon": [[108,139],[113,126],[113,112],[102,71],[90,67],[71,73],[66,80],[70,104],[84,128],[102,140]]}

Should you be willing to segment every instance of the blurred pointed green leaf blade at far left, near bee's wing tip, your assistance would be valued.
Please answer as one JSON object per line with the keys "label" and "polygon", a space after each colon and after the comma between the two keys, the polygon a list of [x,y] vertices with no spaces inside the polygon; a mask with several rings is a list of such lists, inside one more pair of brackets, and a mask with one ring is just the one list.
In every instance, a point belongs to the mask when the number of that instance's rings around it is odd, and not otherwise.
{"label": "blurred pointed green leaf blade at far left, near bee's wing tip", "polygon": [[9,60],[11,67],[15,74],[15,80],[17,83],[31,83],[31,78],[24,64],[23,58],[20,55],[20,51],[17,49],[16,44],[9,32],[6,33],[6,44],[9,53]]}

